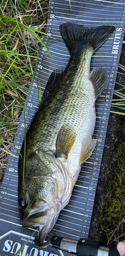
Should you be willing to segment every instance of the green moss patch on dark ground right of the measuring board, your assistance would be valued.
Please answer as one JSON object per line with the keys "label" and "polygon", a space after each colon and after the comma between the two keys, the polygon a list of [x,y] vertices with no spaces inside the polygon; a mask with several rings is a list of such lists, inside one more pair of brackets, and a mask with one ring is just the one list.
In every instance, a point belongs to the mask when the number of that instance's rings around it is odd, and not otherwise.
{"label": "green moss patch on dark ground right of the measuring board", "polygon": [[123,117],[120,118],[117,138],[111,147],[111,158],[109,181],[102,196],[100,217],[104,233],[107,234],[110,242],[119,238],[125,239],[125,119]]}

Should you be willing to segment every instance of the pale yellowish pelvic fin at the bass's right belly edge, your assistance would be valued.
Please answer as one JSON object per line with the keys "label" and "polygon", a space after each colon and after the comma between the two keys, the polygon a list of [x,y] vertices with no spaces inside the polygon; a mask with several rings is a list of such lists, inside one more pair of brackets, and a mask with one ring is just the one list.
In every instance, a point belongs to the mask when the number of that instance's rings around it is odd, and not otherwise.
{"label": "pale yellowish pelvic fin at the bass's right belly edge", "polygon": [[93,149],[96,146],[96,140],[92,138],[86,138],[82,142],[82,150],[80,155],[80,164],[84,163],[92,154]]}

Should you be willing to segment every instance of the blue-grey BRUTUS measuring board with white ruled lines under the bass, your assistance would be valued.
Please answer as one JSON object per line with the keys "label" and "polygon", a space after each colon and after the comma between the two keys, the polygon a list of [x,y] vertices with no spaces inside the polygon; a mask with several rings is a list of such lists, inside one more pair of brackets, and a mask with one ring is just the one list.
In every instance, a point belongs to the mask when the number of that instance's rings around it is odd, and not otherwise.
{"label": "blue-grey BRUTUS measuring board with white ruled lines under the bass", "polygon": [[[44,42],[49,48],[56,69],[65,69],[70,54],[59,33],[59,25],[65,22],[82,24],[86,27],[113,25],[115,32],[98,49],[91,58],[90,70],[104,68],[108,73],[105,90],[96,101],[96,127],[93,134],[97,145],[91,157],[83,164],[80,176],[74,186],[69,204],[61,210],[52,232],[58,236],[78,240],[87,238],[92,215],[93,202],[100,172],[103,148],[105,143],[110,106],[116,80],[117,68],[124,35],[125,3],[120,1],[100,0],[56,0],[49,2],[47,36]],[[38,95],[42,95],[48,78],[54,68],[54,63],[46,49],[41,46],[40,60],[36,64],[34,78],[30,84],[24,112],[20,118],[12,154],[18,156],[24,138],[24,127],[28,126],[38,109]],[[39,94],[38,94],[39,88]],[[39,99],[40,100],[40,99]],[[17,164],[18,159],[10,156],[6,174],[0,187],[0,255],[13,255],[20,246],[33,234],[34,229],[22,230],[17,204]],[[36,231],[34,237],[36,237]],[[37,248],[34,238],[30,238],[20,256],[53,256],[67,255],[51,248]]]}

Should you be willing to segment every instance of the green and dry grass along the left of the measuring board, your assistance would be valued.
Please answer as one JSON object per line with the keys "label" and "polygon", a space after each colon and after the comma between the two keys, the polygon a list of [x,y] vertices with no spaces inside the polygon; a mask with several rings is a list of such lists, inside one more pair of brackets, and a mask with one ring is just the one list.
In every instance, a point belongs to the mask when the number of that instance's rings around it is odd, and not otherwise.
{"label": "green and dry grass along the left of the measuring board", "polygon": [[0,160],[6,168],[3,156],[9,157],[40,45],[46,47],[42,39],[48,4],[3,0],[0,7]]}

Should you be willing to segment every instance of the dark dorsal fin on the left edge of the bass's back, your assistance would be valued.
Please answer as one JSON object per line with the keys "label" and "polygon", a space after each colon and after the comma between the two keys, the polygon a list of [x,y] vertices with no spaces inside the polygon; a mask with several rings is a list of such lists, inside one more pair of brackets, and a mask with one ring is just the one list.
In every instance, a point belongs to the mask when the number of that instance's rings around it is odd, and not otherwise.
{"label": "dark dorsal fin on the left edge of the bass's back", "polygon": [[49,93],[55,88],[58,80],[62,77],[64,71],[63,70],[55,70],[52,72],[52,74],[50,75],[48,82],[46,84],[46,88],[45,91],[43,93],[43,97],[42,97],[42,101],[44,101],[47,96],[49,95]]}

